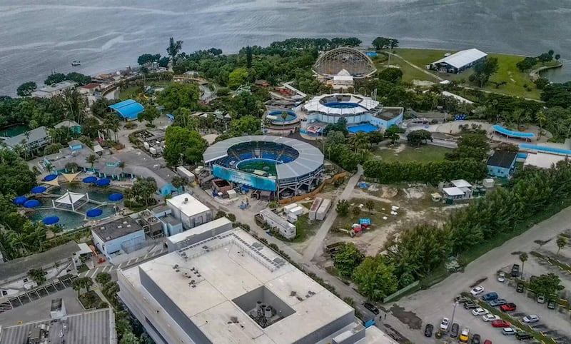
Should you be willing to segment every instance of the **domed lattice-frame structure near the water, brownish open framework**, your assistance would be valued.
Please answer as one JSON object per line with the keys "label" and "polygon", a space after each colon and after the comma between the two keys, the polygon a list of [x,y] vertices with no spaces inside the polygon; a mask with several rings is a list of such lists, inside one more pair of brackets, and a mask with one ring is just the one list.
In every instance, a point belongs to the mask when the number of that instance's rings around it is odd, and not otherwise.
{"label": "domed lattice-frame structure near the water, brownish open framework", "polygon": [[313,72],[325,78],[333,77],[343,69],[356,79],[367,78],[377,71],[367,54],[348,47],[325,52],[313,65]]}

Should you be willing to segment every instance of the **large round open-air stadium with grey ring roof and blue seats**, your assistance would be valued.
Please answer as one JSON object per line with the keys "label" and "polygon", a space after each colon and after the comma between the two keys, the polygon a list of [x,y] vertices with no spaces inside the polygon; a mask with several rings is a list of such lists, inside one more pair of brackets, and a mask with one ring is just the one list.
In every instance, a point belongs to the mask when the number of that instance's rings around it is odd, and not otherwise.
{"label": "large round open-air stadium with grey ring roof and blue seats", "polygon": [[206,148],[203,158],[214,177],[278,198],[313,191],[323,177],[323,153],[294,138],[229,138]]}

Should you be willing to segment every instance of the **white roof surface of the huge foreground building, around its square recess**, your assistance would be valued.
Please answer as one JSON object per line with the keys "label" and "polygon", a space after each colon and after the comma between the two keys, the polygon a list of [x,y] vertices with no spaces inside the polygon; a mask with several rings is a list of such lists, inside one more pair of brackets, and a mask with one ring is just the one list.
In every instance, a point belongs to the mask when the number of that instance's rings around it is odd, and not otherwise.
{"label": "white roof surface of the huge foreground building, around its square recess", "polygon": [[[254,250],[246,244],[261,249]],[[208,251],[203,248],[206,245]],[[140,280],[140,273],[144,271],[213,343],[295,343],[333,320],[353,314],[353,308],[343,300],[245,231],[236,229],[194,246],[184,251],[187,259],[181,256],[181,250],[120,273],[134,288],[148,295]],[[281,266],[268,268],[262,263],[266,258],[281,260]],[[178,273],[173,269],[176,264]],[[200,278],[195,278],[196,288],[191,288],[188,278],[183,275],[191,268],[196,268],[201,274]],[[262,285],[295,313],[261,328],[233,302],[238,296]],[[292,296],[293,291],[302,300]],[[315,294],[306,298],[309,291]],[[228,324],[231,317],[236,317],[241,327],[235,323]]]}

